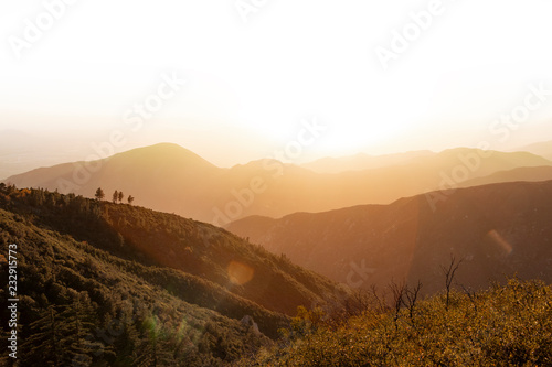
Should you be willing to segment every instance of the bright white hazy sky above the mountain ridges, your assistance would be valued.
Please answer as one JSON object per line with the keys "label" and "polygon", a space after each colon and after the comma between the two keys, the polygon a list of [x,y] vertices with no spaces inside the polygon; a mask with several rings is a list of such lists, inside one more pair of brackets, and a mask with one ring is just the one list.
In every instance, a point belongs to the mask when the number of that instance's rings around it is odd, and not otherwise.
{"label": "bright white hazy sky above the mountain ridges", "polygon": [[84,159],[120,131],[116,151],[172,141],[219,165],[294,142],[298,162],[511,149],[552,139],[551,14],[548,0],[0,0],[0,133]]}

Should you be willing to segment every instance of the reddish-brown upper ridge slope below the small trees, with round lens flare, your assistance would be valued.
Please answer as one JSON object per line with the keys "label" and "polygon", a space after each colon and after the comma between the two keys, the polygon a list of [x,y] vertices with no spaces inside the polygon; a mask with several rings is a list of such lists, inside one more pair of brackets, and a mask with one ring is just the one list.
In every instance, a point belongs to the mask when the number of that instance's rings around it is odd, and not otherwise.
{"label": "reddish-brown upper ridge slope below the small trees, with round lens flare", "polygon": [[41,225],[61,234],[126,259],[182,271],[199,293],[217,294],[202,304],[216,311],[232,312],[243,303],[293,315],[298,305],[331,301],[337,294],[337,284],[328,279],[204,223],[39,190],[11,190],[8,197],[7,207],[34,213]]}

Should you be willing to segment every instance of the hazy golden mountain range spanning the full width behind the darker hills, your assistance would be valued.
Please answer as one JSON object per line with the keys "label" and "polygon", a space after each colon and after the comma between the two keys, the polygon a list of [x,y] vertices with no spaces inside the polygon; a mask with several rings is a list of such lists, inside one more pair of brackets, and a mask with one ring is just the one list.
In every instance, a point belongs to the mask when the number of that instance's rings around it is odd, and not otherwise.
{"label": "hazy golden mountain range spanning the full width behind the darker hills", "polygon": [[94,162],[38,169],[7,179],[18,187],[44,187],[93,197],[103,187],[136,203],[225,225],[247,215],[279,217],[358,204],[389,204],[427,191],[521,166],[552,165],[527,153],[459,148],[372,170],[318,174],[274,160],[221,169],[176,144],[157,144]]}

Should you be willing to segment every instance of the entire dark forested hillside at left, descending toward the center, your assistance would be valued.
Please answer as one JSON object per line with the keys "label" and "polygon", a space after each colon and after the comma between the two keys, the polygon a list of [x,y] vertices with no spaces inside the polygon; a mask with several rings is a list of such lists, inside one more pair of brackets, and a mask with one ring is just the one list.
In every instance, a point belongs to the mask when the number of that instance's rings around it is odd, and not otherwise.
{"label": "entire dark forested hillside at left, descending toward the center", "polygon": [[272,343],[297,306],[347,294],[211,225],[43,190],[0,184],[0,242],[18,247],[28,366],[222,366]]}

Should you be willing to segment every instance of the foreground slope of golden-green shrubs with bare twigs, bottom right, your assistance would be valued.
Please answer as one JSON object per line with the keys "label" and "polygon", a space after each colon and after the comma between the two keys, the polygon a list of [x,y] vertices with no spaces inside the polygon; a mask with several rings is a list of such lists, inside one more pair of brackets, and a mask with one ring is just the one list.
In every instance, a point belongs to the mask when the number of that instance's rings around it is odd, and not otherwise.
{"label": "foreground slope of golden-green shrubs with bare twigs, bottom right", "polygon": [[[551,366],[552,288],[516,279],[481,292],[413,301],[401,309],[368,294],[344,322],[300,310],[276,347],[238,366]],[[404,303],[403,303],[404,302]],[[404,304],[404,305],[403,305]]]}

